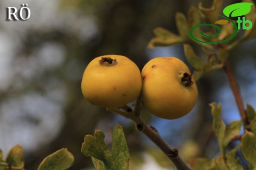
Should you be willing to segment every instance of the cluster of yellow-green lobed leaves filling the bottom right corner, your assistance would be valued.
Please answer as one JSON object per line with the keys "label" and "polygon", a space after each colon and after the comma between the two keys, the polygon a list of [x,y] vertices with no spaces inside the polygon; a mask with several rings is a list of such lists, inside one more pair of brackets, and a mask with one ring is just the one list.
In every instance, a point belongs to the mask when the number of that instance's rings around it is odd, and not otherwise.
{"label": "cluster of yellow-green lobed leaves filling the bottom right corner", "polygon": [[[213,131],[217,138],[221,154],[217,158],[208,160],[206,158],[193,158],[190,160],[192,170],[244,170],[236,158],[238,149],[241,149],[244,159],[249,163],[249,170],[256,169],[256,112],[247,104],[247,115],[251,123],[248,130],[242,136],[238,136],[241,130],[242,121],[231,121],[226,126],[221,120],[221,104],[211,103],[211,114],[213,117]],[[228,144],[240,139],[240,143],[233,149],[227,151]]]}

